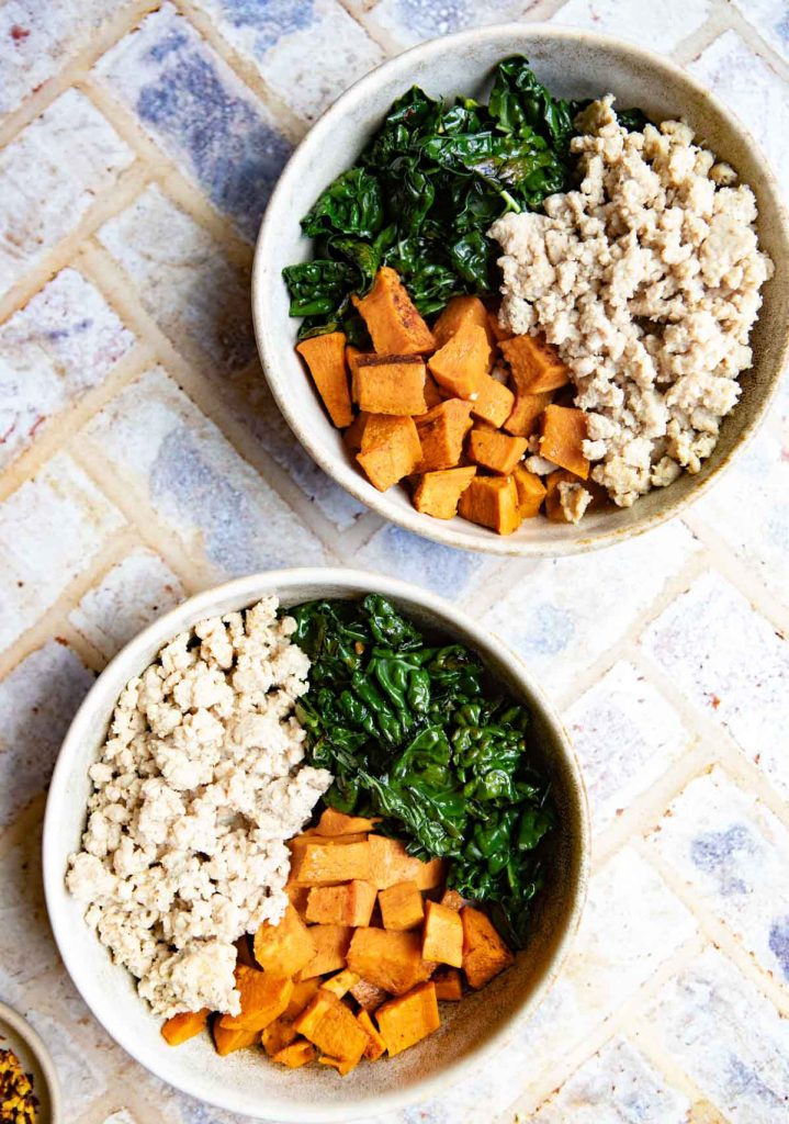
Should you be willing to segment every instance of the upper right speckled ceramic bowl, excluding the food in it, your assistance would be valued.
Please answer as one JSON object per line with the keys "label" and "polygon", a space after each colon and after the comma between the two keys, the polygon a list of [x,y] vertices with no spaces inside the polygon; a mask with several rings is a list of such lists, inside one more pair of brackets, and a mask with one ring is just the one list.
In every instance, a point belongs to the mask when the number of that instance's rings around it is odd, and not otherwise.
{"label": "upper right speckled ceramic bowl, excluding the food in it", "polygon": [[[526,519],[507,537],[455,517],[420,515],[403,488],[377,491],[354,466],[329,423],[299,357],[297,321],[288,315],[284,265],[311,256],[299,219],[339,172],[348,167],[391,102],[417,83],[433,96],[486,92],[493,65],[514,53],[527,55],[537,76],[564,97],[611,91],[623,106],[640,106],[654,119],[683,117],[698,138],[728,161],[759,203],[762,247],[776,264],[753,332],[753,370],[743,395],[724,420],[718,445],[697,475],[684,473],[627,509],[589,514],[577,526]],[[539,24],[477,28],[414,47],[372,71],[320,118],[288,163],[257,239],[252,302],[257,346],[272,393],[291,429],[317,463],[373,510],[448,546],[490,554],[555,556],[622,542],[659,526],[696,500],[731,463],[764,416],[783,368],[789,337],[789,228],[776,180],[740,121],[690,74],[641,47],[601,35]]]}

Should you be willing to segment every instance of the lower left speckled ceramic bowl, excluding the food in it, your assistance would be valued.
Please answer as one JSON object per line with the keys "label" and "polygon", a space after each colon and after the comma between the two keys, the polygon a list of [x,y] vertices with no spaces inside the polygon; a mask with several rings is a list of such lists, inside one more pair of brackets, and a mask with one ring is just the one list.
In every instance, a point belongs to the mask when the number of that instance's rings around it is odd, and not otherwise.
{"label": "lower left speckled ceramic bowl, excluding the food in it", "polygon": [[[90,795],[88,767],[97,759],[120,691],[163,644],[203,617],[254,605],[276,593],[284,606],[317,597],[380,592],[419,624],[480,653],[490,670],[526,703],[535,743],[551,777],[562,824],[526,950],[483,991],[444,1005],[443,1025],[394,1059],[360,1066],[346,1078],[311,1066],[287,1070],[261,1053],[219,1058],[206,1034],[166,1045],[156,1019],[137,996],[132,976],[111,963],[65,889],[69,855],[79,849]],[[441,1093],[504,1045],[555,980],[578,927],[589,868],[586,791],[559,718],[518,656],[448,601],[417,586],[351,570],[281,570],[232,581],[193,597],[132,641],[97,680],[63,743],[44,824],[44,887],[61,955],[83,999],[112,1037],[138,1062],[184,1093],[256,1118],[312,1122],[373,1116]]]}

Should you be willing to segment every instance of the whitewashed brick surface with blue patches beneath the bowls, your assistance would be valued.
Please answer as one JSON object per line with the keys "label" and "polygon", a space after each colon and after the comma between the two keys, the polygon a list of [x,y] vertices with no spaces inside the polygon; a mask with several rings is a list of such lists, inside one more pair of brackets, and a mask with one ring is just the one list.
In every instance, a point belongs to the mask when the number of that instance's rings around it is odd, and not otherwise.
{"label": "whitewashed brick surface with blue patches beneath the bowls", "polygon": [[[96,672],[250,570],[419,574],[544,680],[590,787],[561,982],[483,1072],[368,1124],[789,1121],[789,395],[682,522],[497,562],[361,508],[255,359],[252,241],[292,145],[419,39],[550,19],[670,53],[789,183],[785,0],[7,0],[0,7],[0,994],[67,1124],[234,1124],[96,1024],[49,936],[45,788]],[[605,76],[601,75],[605,87]]]}

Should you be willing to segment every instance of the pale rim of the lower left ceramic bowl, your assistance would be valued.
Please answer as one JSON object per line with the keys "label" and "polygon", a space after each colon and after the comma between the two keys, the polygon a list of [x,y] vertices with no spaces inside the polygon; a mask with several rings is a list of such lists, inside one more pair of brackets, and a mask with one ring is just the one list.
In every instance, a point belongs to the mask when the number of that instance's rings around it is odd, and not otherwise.
{"label": "pale rim of the lower left ceramic bowl", "polygon": [[[468,1073],[479,1069],[491,1054],[500,1050],[509,1041],[517,1026],[526,1017],[534,1014],[537,1006],[545,998],[548,989],[555,982],[566,961],[570,948],[578,932],[589,883],[591,828],[588,796],[580,762],[566,729],[527,664],[516,652],[496,634],[478,624],[471,616],[457,609],[438,595],[411,582],[389,578],[374,571],[337,566],[292,568],[261,571],[260,573],[236,578],[220,586],[215,586],[211,589],[185,599],[174,609],[170,609],[157,617],[129,641],[98,676],[74,715],[58,753],[44,816],[42,855],[44,894],[55,943],[66,971],[93,1017],[132,1058],[161,1080],[192,1097],[199,1097],[199,1099],[217,1108],[239,1113],[241,1115],[254,1116],[260,1120],[260,1108],[253,1112],[252,1107],[244,1107],[238,1103],[228,1103],[228,1100],[223,1100],[221,1097],[217,1097],[216,1099],[207,1097],[203,1091],[197,1094],[193,1089],[189,1088],[185,1081],[173,1080],[173,1077],[166,1071],[166,1066],[158,1064],[160,1055],[157,1053],[147,1052],[139,1046],[132,1034],[126,1032],[123,1024],[108,1025],[105,1013],[100,1013],[97,1009],[100,1007],[98,999],[99,989],[94,984],[92,985],[90,967],[83,963],[76,952],[72,951],[70,946],[69,936],[72,923],[58,906],[58,896],[62,897],[63,886],[63,844],[58,836],[60,813],[64,800],[66,781],[74,768],[72,759],[79,752],[83,738],[90,737],[88,722],[90,720],[91,710],[97,697],[102,698],[107,694],[106,683],[111,681],[107,672],[110,669],[117,670],[119,665],[125,663],[138,665],[143,652],[151,646],[152,642],[161,646],[167,642],[169,637],[175,636],[187,627],[185,620],[198,620],[202,616],[210,616],[212,613],[216,613],[216,605],[220,599],[232,597],[239,605],[252,605],[266,593],[276,593],[280,596],[281,593],[287,593],[293,587],[309,584],[317,587],[339,587],[344,592],[375,591],[386,597],[412,600],[428,613],[435,614],[445,619],[447,624],[456,626],[466,633],[471,637],[472,644],[479,642],[482,649],[498,647],[514,674],[527,687],[534,699],[533,705],[541,711],[543,719],[551,727],[556,745],[561,746],[560,752],[572,781],[573,800],[578,805],[578,877],[574,883],[570,883],[568,922],[564,932],[556,942],[553,953],[546,961],[542,977],[535,984],[525,1005],[522,1005],[505,1018],[499,1030],[483,1043],[457,1060],[447,1059],[446,1066],[437,1073],[417,1079],[401,1090],[372,1094],[360,1099],[353,1108],[338,1103],[336,1105],[316,1105],[315,1109],[311,1109],[305,1106],[289,1107],[287,1102],[284,1102],[273,1105],[271,1109],[275,1112],[276,1120],[291,1122],[291,1124],[310,1124],[310,1122],[315,1122],[315,1124],[328,1124],[328,1122],[354,1120],[360,1115],[371,1112],[392,1112],[409,1104],[425,1100],[428,1097],[439,1094],[454,1081],[461,1079],[461,1077],[468,1076]],[[130,674],[135,674],[135,672],[132,671]],[[166,1054],[161,1054],[162,1059],[165,1057]]]}

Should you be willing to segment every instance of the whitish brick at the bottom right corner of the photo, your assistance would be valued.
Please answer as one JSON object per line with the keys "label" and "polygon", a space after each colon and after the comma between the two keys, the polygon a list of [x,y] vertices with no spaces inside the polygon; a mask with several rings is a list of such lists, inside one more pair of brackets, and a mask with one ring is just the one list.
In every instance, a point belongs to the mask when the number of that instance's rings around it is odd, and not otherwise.
{"label": "whitish brick at the bottom right corner of the photo", "polygon": [[645,1017],[732,1124],[789,1120],[789,1022],[719,952],[704,952]]}

